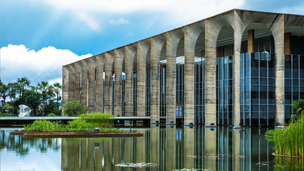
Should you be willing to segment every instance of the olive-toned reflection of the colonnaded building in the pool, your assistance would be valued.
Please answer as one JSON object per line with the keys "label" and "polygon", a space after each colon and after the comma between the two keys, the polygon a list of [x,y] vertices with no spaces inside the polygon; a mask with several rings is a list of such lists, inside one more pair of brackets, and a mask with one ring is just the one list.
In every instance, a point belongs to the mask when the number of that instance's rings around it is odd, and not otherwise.
{"label": "olive-toned reflection of the colonnaded building in the pool", "polygon": [[[274,170],[273,142],[267,128],[215,129],[151,125],[132,128],[137,138],[62,138],[62,170]],[[279,161],[279,160],[278,160]],[[280,161],[282,163],[282,161]],[[121,163],[154,163],[155,167],[131,168]],[[266,163],[266,164],[265,164]],[[301,162],[298,162],[301,164]]]}

